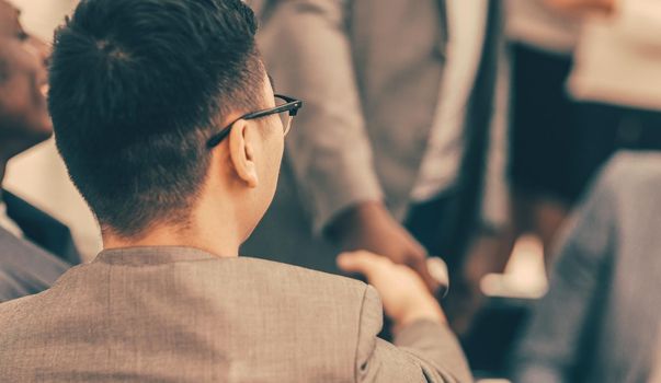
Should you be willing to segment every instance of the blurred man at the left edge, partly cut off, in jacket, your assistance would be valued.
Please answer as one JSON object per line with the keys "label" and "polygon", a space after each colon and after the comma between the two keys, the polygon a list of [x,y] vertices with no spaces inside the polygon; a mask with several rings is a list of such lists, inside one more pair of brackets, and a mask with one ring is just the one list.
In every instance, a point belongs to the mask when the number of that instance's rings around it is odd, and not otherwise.
{"label": "blurred man at the left edge, partly cut off, in jacket", "polygon": [[[48,47],[0,0],[0,179],[15,155],[48,139]],[[13,194],[0,201],[0,302],[43,291],[80,257],[60,222]]]}

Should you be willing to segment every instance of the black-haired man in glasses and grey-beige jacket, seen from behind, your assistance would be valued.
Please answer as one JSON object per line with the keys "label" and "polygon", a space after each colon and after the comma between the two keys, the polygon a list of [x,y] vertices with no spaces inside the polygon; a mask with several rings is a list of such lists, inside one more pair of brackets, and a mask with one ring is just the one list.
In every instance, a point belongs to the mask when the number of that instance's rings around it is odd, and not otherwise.
{"label": "black-haired man in glasses and grey-beige jacket, seen from behind", "polygon": [[[441,307],[404,266],[374,288],[238,258],[273,199],[300,101],[273,94],[239,0],[83,0],[56,33],[49,107],[104,251],[0,305],[9,381],[465,382]],[[281,118],[277,118],[280,116]]]}

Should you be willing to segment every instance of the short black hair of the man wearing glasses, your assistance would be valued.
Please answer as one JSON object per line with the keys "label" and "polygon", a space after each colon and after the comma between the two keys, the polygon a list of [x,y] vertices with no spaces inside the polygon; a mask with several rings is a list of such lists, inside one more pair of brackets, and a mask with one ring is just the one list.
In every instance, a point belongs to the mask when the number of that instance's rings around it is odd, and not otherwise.
{"label": "short black hair of the man wearing glasses", "polygon": [[56,31],[57,147],[103,229],[187,222],[206,140],[227,112],[264,105],[255,33],[240,0],[82,0]]}

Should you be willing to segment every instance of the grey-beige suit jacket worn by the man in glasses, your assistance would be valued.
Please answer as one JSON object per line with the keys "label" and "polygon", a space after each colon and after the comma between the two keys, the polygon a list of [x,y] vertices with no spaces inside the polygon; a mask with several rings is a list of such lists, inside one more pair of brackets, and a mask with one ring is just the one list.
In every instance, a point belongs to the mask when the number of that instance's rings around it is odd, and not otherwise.
{"label": "grey-beige suit jacket worn by the man in glasses", "polygon": [[468,382],[432,322],[376,337],[375,290],[346,278],[183,247],[102,252],[0,305],[7,382]]}

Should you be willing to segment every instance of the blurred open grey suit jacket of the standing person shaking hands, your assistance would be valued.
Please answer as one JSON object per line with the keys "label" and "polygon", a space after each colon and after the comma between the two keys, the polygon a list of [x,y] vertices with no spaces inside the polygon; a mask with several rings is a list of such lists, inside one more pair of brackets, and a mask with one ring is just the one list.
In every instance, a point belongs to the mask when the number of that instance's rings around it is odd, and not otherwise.
{"label": "blurred open grey suit jacket of the standing person shaking hands", "polygon": [[[244,253],[337,271],[319,234],[339,213],[384,200],[403,219],[437,108],[445,65],[440,0],[252,0],[278,92],[305,101],[287,137],[278,192]],[[495,82],[490,34],[470,101],[456,207],[443,228],[466,239],[483,181]],[[460,247],[460,246],[458,246]]]}

